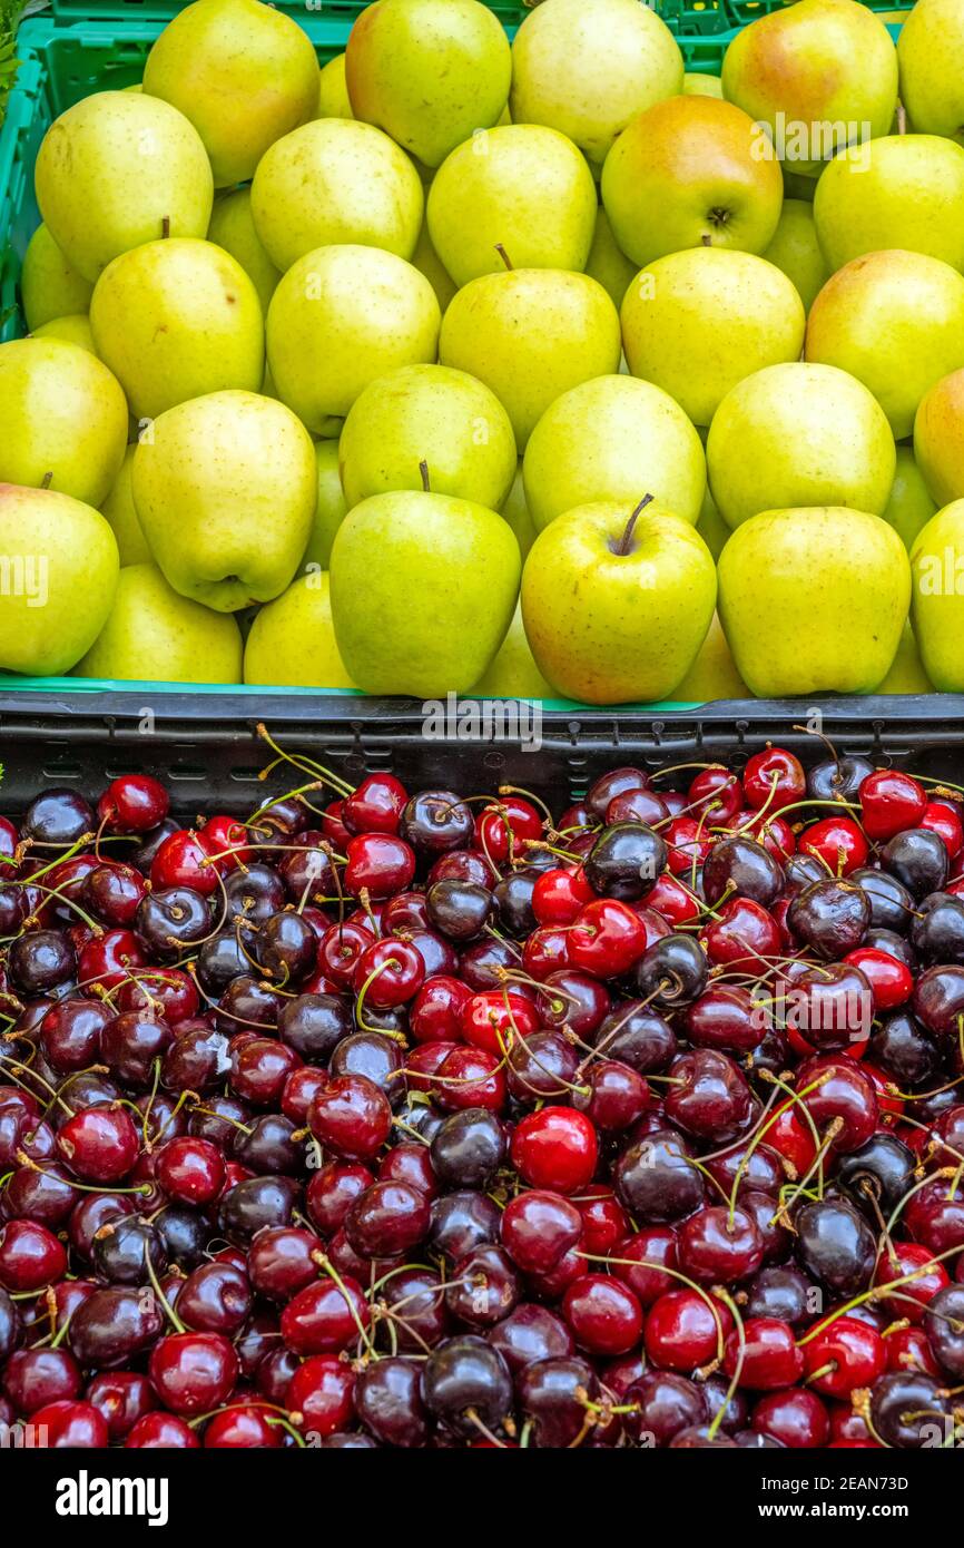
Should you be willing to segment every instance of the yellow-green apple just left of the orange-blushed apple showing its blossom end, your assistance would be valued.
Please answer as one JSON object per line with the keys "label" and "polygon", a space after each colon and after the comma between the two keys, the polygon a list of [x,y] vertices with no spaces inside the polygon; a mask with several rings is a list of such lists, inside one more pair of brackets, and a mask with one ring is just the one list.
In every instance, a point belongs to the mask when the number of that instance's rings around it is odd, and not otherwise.
{"label": "yellow-green apple just left of the orange-blushed apple showing its blossom end", "polygon": [[432,246],[456,285],[503,268],[583,269],[596,229],[596,184],[571,139],[542,124],[472,135],[429,190]]}

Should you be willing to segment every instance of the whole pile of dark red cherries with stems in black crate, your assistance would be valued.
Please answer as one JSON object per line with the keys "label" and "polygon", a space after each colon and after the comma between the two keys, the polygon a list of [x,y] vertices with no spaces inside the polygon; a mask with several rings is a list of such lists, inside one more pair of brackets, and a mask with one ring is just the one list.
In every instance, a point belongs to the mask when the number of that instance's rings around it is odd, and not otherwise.
{"label": "whole pile of dark red cherries with stems in black crate", "polygon": [[0,817],[0,1426],[956,1446],[961,789],[771,746],[552,817],[271,745],[246,820]]}

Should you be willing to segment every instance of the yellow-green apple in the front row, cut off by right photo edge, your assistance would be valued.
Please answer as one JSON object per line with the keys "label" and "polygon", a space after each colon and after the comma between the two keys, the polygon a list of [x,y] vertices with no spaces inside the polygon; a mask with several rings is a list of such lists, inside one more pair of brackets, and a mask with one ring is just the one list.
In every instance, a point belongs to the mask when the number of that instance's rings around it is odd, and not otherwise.
{"label": "yellow-green apple in the front row, cut off by right photo edge", "polygon": [[910,621],[939,694],[964,692],[964,500],[921,528],[910,551]]}

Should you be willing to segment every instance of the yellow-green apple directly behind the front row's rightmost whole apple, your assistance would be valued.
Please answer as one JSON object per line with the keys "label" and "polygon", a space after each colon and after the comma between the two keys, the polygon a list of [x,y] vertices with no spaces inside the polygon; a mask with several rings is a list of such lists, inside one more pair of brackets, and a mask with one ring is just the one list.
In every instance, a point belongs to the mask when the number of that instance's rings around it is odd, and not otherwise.
{"label": "yellow-green apple directly behind the front row's rightmost whole apple", "polygon": [[896,450],[867,387],[834,365],[792,361],[727,392],[710,424],[706,463],[720,514],[737,528],[760,511],[803,505],[882,515]]}

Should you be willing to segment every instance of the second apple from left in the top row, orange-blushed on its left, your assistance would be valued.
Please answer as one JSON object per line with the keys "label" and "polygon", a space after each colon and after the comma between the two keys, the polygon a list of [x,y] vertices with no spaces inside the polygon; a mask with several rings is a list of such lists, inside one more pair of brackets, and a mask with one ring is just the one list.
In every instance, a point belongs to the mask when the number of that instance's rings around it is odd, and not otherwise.
{"label": "second apple from left in the top row, orange-blushed on its left", "polygon": [[498,122],[511,76],[501,22],[478,0],[378,0],[345,50],[354,116],[427,167]]}

